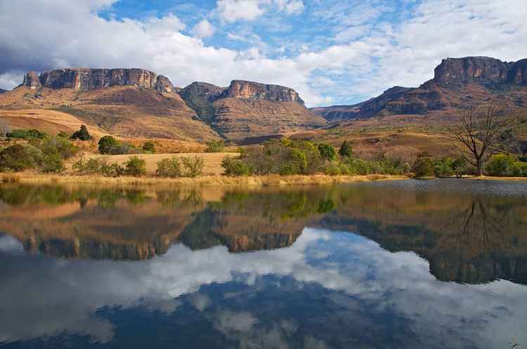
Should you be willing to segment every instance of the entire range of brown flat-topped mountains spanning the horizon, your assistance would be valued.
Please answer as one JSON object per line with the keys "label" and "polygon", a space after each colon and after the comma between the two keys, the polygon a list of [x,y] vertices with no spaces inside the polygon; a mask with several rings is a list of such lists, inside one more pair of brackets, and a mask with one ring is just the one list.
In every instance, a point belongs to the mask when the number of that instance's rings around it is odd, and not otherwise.
{"label": "entire range of brown flat-topped mountains spanning the horizon", "polygon": [[195,81],[179,88],[143,69],[28,72],[20,86],[1,93],[0,118],[11,128],[51,133],[87,124],[96,134],[125,138],[242,142],[357,125],[431,126],[450,122],[471,105],[496,101],[508,110],[526,108],[527,59],[447,58],[419,87],[395,86],[363,103],[311,110],[294,89],[253,81],[233,80],[223,87]]}

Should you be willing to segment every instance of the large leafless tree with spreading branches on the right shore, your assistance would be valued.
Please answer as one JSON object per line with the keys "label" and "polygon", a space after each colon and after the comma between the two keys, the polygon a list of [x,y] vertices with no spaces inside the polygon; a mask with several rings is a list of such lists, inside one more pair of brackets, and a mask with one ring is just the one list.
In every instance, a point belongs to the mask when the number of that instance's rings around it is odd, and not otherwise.
{"label": "large leafless tree with spreading branches on the right shore", "polygon": [[461,115],[460,125],[447,126],[447,136],[460,143],[458,149],[478,176],[483,176],[483,164],[499,149],[502,135],[519,123],[518,117],[498,114],[493,105],[482,110],[470,107]]}

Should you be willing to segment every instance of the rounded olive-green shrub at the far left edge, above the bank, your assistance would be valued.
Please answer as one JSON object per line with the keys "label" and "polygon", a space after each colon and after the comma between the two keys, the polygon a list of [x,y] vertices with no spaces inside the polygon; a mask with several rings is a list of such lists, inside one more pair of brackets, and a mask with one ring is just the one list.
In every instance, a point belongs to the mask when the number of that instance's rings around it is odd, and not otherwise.
{"label": "rounded olive-green shrub at the far left edge, above the bank", "polygon": [[0,171],[24,171],[41,164],[43,154],[33,145],[15,144],[0,152]]}

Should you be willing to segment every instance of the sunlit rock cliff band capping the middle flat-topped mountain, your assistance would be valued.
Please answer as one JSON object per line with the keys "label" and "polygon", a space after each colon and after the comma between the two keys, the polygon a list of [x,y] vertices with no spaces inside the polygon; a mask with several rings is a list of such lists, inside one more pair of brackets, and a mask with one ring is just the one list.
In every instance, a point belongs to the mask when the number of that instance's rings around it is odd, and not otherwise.
{"label": "sunlit rock cliff band capping the middle flat-topped mountain", "polygon": [[269,100],[271,102],[296,102],[304,105],[294,89],[278,86],[266,85],[258,82],[233,80],[230,86],[223,91],[221,98],[242,98],[248,100]]}

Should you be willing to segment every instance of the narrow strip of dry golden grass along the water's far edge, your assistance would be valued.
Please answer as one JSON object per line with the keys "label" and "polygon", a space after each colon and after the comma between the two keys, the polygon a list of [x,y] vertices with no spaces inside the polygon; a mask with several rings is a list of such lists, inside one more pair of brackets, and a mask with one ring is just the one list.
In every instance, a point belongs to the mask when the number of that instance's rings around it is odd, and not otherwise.
{"label": "narrow strip of dry golden grass along the water's far edge", "polygon": [[375,180],[403,180],[407,176],[367,175],[367,176],[200,176],[196,178],[159,178],[159,177],[105,177],[48,175],[41,173],[16,173],[2,175],[4,183],[32,184],[104,184],[104,185],[226,185],[237,187],[266,187],[271,185],[327,185],[332,183],[371,182]]}

